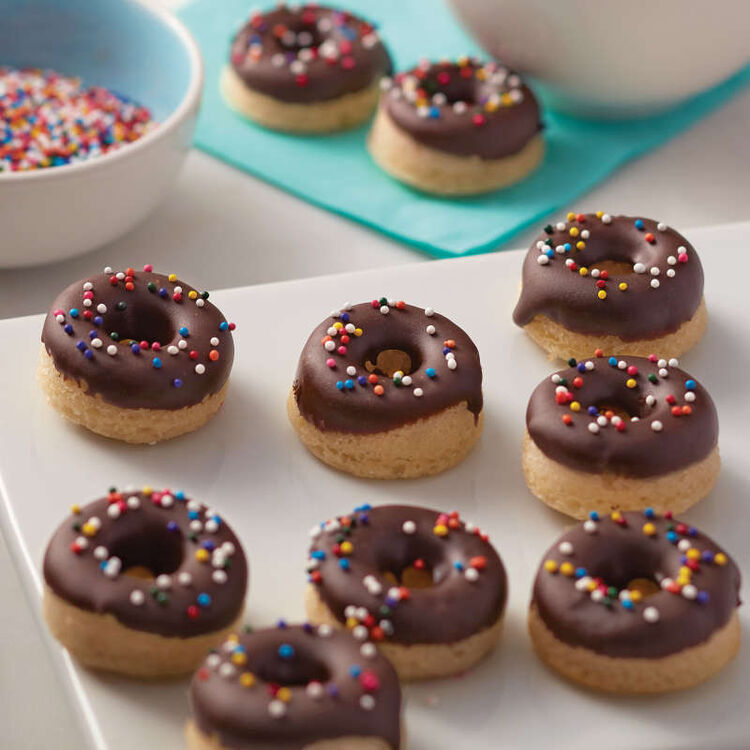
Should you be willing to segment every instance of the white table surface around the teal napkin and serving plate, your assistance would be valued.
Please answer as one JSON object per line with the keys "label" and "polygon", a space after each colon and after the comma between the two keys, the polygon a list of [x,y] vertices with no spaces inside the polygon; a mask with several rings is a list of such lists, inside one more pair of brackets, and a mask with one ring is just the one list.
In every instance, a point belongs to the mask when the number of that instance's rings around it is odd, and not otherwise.
{"label": "white table surface around the teal napkin and serving plate", "polygon": [[[151,2],[173,7],[179,0]],[[621,169],[574,208],[644,214],[681,230],[747,220],[749,125],[746,91]],[[526,245],[535,232],[508,246]],[[60,289],[105,265],[150,262],[219,289],[335,273],[342,270],[342,257],[348,269],[426,261],[417,251],[193,152],[172,195],[128,236],[52,266],[0,271],[0,318],[44,311]],[[3,748],[81,746],[2,537],[0,698]]]}

